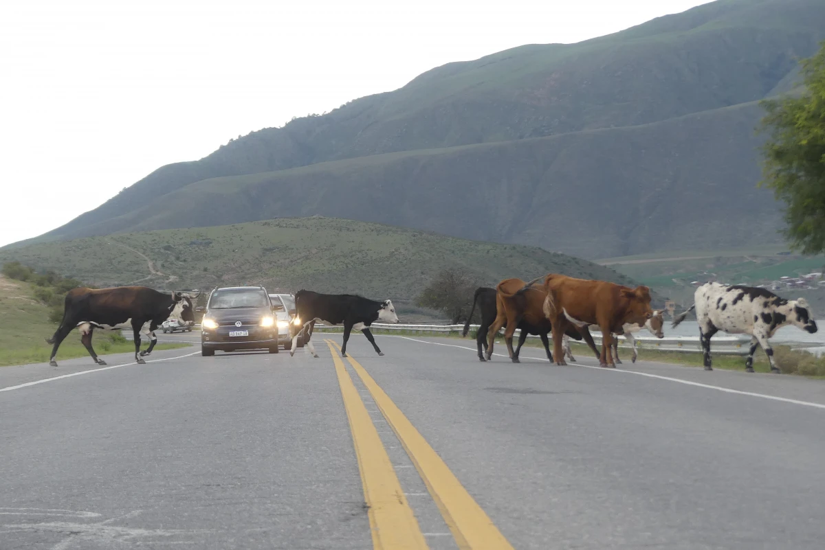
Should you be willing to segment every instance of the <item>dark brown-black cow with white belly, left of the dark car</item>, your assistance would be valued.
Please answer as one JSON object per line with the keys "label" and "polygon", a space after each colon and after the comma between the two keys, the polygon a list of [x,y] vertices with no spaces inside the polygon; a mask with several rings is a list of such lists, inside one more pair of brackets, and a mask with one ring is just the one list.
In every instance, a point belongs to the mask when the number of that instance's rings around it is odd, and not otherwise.
{"label": "dark brown-black cow with white belly, left of the dark car", "polygon": [[[63,320],[54,335],[46,339],[47,343],[54,344],[50,365],[57,366],[54,357],[58,347],[75,327],[80,330],[83,346],[98,365],[106,365],[106,361],[98,359],[92,349],[92,331],[132,329],[134,360],[144,364],[146,361],[140,357],[152,352],[158,342],[154,331],[163,321],[171,318],[181,324],[195,324],[192,300],[198,295],[200,292],[161,292],[148,287],[73,288],[66,294]],[[144,352],[140,351],[140,333],[151,341]]]}

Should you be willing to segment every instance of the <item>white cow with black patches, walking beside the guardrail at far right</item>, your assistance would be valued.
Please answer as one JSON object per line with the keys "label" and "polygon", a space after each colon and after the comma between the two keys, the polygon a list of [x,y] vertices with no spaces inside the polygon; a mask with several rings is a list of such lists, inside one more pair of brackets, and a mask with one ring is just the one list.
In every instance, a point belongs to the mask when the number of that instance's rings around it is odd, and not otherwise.
{"label": "white cow with black patches, walking beside the guardrail at far right", "polygon": [[694,308],[696,322],[699,323],[705,371],[713,370],[710,366],[710,337],[719,330],[752,336],[751,349],[745,360],[747,372],[753,372],[753,352],[757,351],[757,344],[761,345],[768,361],[771,361],[771,372],[779,372],[773,358],[773,349],[768,342],[776,329],[793,324],[808,333],[817,332],[816,321],[804,298],[789,301],[764,288],[707,282],[696,289],[694,304],[678,315],[672,326],[676,327],[685,320],[688,312]]}

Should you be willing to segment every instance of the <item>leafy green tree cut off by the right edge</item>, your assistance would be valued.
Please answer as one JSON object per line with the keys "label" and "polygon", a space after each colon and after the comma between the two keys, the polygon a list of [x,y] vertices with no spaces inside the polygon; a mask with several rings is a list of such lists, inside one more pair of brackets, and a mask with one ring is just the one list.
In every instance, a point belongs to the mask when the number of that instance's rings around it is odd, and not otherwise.
{"label": "leafy green tree cut off by the right edge", "polygon": [[791,248],[818,254],[825,250],[825,42],[801,65],[800,95],[763,101],[761,130],[770,137],[762,146],[759,185],[785,202],[782,232]]}

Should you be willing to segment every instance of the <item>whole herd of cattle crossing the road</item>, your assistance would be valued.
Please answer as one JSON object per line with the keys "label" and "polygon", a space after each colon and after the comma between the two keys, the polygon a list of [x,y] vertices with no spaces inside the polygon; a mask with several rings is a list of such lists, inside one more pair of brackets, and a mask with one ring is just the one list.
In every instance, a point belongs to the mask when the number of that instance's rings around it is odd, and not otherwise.
{"label": "whole herd of cattle crossing the road", "polygon": [[[181,324],[195,324],[192,300],[199,294],[161,292],[147,287],[74,288],[66,296],[63,320],[54,336],[47,340],[54,344],[50,364],[57,366],[54,358],[58,347],[75,328],[79,329],[83,345],[98,365],[106,363],[92,349],[93,330],[132,329],[135,361],[144,363],[141,357],[152,352],[157,343],[154,330],[163,321],[172,318]],[[766,352],[771,371],[779,371],[768,342],[776,329],[792,324],[808,333],[817,332],[817,324],[803,298],[788,301],[763,288],[718,282],[709,282],[697,288],[694,297],[694,305],[676,316],[672,326],[676,327],[691,310],[695,310],[707,371],[712,370],[710,338],[719,330],[752,336],[745,362],[748,372],[753,372],[753,354],[757,345],[761,345]],[[475,291],[469,317],[472,319],[478,305],[481,323],[476,343],[480,361],[485,361],[485,354],[486,361],[493,356],[493,342],[503,327],[507,353],[513,362],[519,362],[521,346],[527,334],[533,334],[541,338],[549,361],[556,365],[566,365],[565,356],[575,361],[569,343],[569,339],[573,338],[577,341],[583,339],[601,366],[615,367],[616,363],[621,363],[616,335],[624,335],[632,344],[634,362],[637,353],[633,333],[648,329],[654,336],[664,337],[662,311],[653,310],[650,301],[650,289],[642,285],[630,288],[614,282],[549,273],[530,282],[510,278],[499,282],[495,288],[480,287]],[[344,357],[347,356],[347,341],[352,329],[361,330],[375,352],[383,356],[370,332],[370,325],[376,321],[398,323],[392,301],[375,301],[349,294],[301,290],[295,294],[295,309],[300,322],[290,324],[290,337],[293,339],[290,356],[295,355],[298,339],[304,335],[309,352],[318,357],[311,341],[316,322],[328,326],[343,325],[341,352]],[[601,350],[596,348],[590,334],[591,326],[601,330]],[[514,350],[512,338],[516,329],[520,329],[520,334]],[[468,331],[469,319],[464,324],[463,335],[466,336]],[[145,351],[140,351],[141,333],[150,340]],[[553,338],[552,352],[549,347],[550,334]]]}

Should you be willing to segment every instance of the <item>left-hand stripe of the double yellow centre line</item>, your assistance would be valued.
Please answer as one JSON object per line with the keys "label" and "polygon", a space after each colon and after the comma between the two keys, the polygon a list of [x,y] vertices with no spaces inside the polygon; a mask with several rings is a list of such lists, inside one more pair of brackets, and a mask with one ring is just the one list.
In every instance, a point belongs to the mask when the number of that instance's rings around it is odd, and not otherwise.
{"label": "left-hand stripe of the double yellow centre line", "polygon": [[331,340],[324,340],[332,352],[332,362],[341,386],[344,409],[352,433],[361,485],[369,510],[370,531],[375,550],[427,550],[421,528],[410,508],[395,475],[393,464],[375,425],[366,412],[364,402],[352,382],[341,357],[332,347]]}

